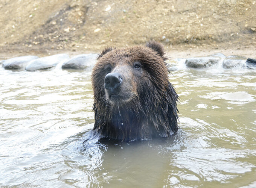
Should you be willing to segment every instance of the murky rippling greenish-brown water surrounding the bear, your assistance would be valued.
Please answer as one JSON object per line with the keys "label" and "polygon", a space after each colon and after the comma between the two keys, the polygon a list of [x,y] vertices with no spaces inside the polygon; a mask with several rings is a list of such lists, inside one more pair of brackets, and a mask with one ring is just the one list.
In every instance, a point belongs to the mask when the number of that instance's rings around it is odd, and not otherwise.
{"label": "murky rippling greenish-brown water surrounding the bear", "polygon": [[98,143],[90,72],[1,67],[0,187],[256,187],[255,73],[180,64],[176,135]]}

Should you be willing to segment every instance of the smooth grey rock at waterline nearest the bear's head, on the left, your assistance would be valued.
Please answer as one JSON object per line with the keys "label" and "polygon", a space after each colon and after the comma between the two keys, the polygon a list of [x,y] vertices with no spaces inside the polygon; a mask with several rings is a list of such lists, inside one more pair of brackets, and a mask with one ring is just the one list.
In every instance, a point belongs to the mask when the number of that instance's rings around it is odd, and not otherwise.
{"label": "smooth grey rock at waterline nearest the bear's head, on the left", "polygon": [[91,70],[96,63],[97,54],[81,54],[74,56],[67,62],[64,62],[61,68],[63,69],[88,69]]}

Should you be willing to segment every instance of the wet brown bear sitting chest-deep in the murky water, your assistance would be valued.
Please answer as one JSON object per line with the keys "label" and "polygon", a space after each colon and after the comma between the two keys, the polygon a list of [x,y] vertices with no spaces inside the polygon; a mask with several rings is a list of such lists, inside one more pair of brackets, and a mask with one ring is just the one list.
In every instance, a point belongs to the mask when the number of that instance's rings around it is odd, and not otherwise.
{"label": "wet brown bear sitting chest-deep in the murky water", "polygon": [[91,76],[94,133],[134,141],[177,131],[178,95],[168,80],[166,59],[155,41],[102,51]]}

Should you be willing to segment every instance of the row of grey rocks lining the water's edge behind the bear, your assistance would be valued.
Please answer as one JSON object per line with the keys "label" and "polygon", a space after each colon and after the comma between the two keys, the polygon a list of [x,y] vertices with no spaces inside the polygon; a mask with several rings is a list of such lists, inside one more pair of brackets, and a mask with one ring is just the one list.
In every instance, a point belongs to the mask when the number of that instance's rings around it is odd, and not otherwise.
{"label": "row of grey rocks lining the water's edge behind the bear", "polygon": [[[59,65],[62,69],[91,70],[96,63],[98,55],[96,53],[80,54],[70,58],[66,53],[46,56],[20,56],[0,61],[6,70],[50,70]],[[176,58],[167,62],[168,70],[178,69],[178,64],[185,64],[189,68],[209,68],[220,65],[224,69],[254,69],[256,70],[256,59],[244,56],[225,56],[222,53],[215,53],[209,56]]]}

